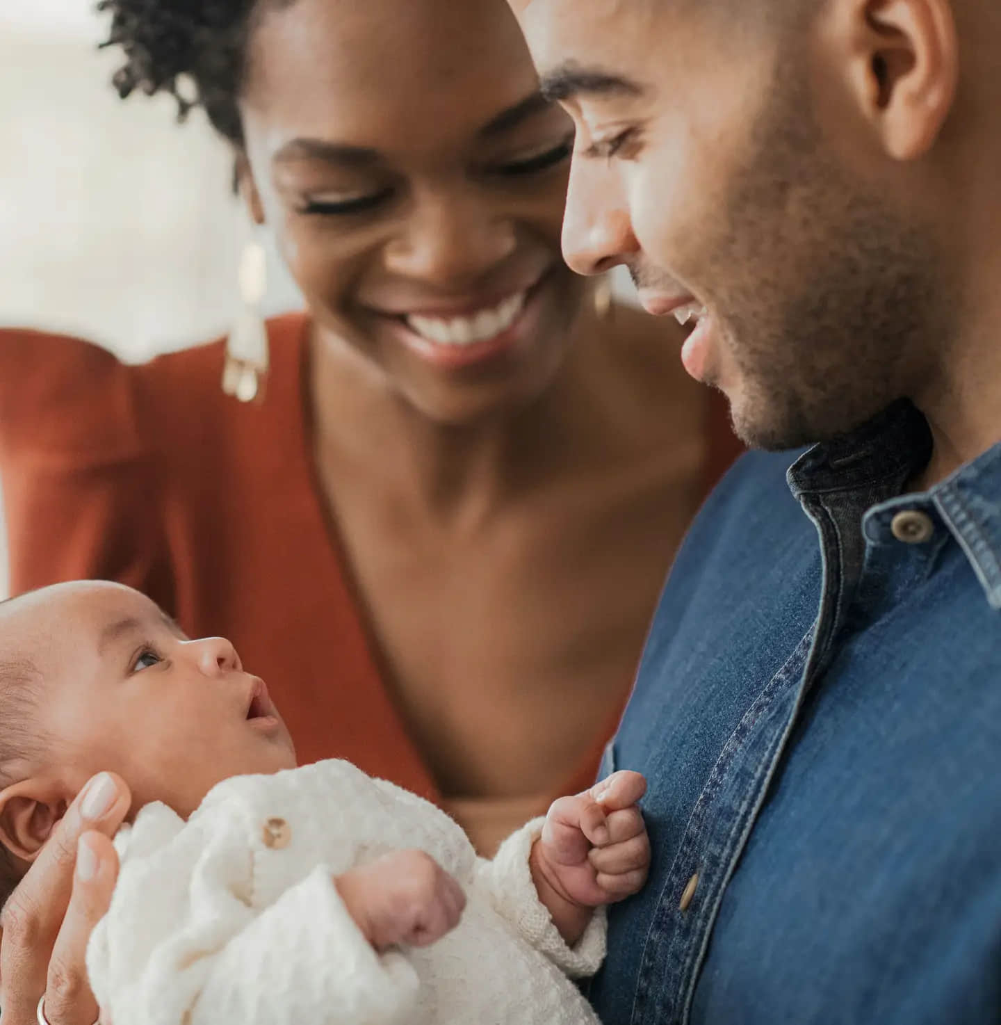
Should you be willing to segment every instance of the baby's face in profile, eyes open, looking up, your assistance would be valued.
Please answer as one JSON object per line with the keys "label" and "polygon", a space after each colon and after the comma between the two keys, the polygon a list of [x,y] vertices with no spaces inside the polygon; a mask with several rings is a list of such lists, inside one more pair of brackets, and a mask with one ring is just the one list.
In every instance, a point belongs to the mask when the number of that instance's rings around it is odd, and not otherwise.
{"label": "baby's face in profile, eyes open, looking up", "polygon": [[233,645],[189,641],[128,587],[49,588],[0,617],[0,637],[11,629],[41,673],[50,771],[70,789],[108,770],[129,784],[134,809],[162,801],[186,816],[223,779],[295,765],[263,682]]}

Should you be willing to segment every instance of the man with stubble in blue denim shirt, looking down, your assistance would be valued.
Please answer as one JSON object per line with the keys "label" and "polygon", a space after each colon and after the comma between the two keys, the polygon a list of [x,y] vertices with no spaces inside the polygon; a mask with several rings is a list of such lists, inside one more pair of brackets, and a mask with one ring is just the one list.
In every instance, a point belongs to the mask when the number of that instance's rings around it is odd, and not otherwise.
{"label": "man with stubble in blue denim shirt, looking down", "polygon": [[1001,5],[511,3],[577,124],[570,261],[695,324],[748,442],[820,443],[738,464],[664,593],[596,1007],[997,1021]]}

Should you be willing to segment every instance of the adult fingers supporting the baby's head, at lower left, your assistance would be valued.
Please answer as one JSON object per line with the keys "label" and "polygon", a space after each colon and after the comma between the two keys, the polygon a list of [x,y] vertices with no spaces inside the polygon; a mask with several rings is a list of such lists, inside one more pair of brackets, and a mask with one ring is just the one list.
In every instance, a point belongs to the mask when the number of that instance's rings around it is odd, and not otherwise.
{"label": "adult fingers supporting the baby's head, at lower left", "polygon": [[101,773],[77,795],[0,914],[0,1025],[93,1025],[87,941],[111,904],[118,856],[111,842],[131,804]]}

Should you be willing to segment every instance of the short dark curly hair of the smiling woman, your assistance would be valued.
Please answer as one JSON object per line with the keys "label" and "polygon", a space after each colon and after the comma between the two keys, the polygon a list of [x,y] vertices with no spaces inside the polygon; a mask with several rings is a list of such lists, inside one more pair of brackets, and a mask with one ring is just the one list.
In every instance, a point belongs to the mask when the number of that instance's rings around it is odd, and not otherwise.
{"label": "short dark curly hair of the smiling woman", "polygon": [[294,0],[100,0],[111,13],[105,46],[119,46],[125,64],[115,73],[123,98],[136,89],[167,92],[181,120],[202,107],[236,147],[243,146],[238,98],[246,74],[247,42],[259,8]]}

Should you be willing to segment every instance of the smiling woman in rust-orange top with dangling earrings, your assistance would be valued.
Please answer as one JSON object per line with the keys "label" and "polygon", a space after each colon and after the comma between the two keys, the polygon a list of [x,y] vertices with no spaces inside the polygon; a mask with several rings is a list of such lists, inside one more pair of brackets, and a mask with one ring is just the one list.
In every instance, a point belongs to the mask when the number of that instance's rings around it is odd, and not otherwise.
{"label": "smiling woman in rust-orange top with dangling earrings", "polygon": [[[269,325],[247,405],[219,387],[222,342],[125,368],[3,337],[13,589],[116,577],[233,638],[301,761],[351,758],[490,851],[590,781],[732,447],[709,442],[680,338],[602,318],[562,264],[572,129],[506,4],[103,6],[120,89],[194,84],[307,313]],[[0,960],[15,1008],[45,988],[67,901],[58,859],[36,868]],[[65,997],[92,880],[49,971],[52,1025],[93,1010]]]}

